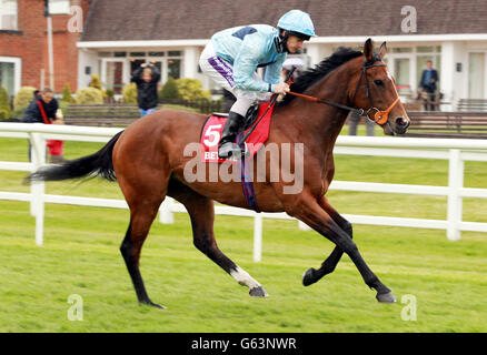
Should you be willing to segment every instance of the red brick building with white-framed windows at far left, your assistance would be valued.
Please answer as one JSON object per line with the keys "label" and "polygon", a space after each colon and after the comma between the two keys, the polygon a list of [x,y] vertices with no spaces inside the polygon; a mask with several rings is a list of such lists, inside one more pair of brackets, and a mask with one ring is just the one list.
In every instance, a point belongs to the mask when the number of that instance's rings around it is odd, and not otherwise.
{"label": "red brick building with white-framed windows at far left", "polygon": [[[78,50],[81,32],[70,31],[72,10],[88,12],[90,0],[50,0],[53,42],[53,89],[78,85]],[[79,8],[73,8],[79,7]],[[78,21],[79,22],[79,21]],[[0,84],[13,95],[20,87],[50,84],[48,24],[44,0],[0,0]]]}

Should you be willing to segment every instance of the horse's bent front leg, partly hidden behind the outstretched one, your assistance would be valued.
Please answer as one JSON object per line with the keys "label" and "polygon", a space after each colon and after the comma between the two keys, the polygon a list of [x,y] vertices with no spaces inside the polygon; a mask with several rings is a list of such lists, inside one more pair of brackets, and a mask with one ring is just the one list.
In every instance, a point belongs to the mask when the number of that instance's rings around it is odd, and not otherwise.
{"label": "horse's bent front leg, partly hidden behind the outstretched one", "polygon": [[[350,222],[344,219],[328,202],[328,200],[322,196],[319,200],[319,205],[330,215],[330,217],[337,223],[337,225],[347,233],[347,235],[352,239],[352,227]],[[305,286],[309,286],[318,281],[320,281],[324,276],[332,273],[335,267],[337,267],[338,262],[344,255],[344,251],[336,246],[331,254],[321,263],[319,268],[310,267],[302,275],[302,284]]]}

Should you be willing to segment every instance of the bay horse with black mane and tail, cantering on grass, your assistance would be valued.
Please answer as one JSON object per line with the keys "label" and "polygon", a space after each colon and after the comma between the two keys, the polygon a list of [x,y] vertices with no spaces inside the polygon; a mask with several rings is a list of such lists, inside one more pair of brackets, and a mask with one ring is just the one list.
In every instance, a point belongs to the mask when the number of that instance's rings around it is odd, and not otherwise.
{"label": "bay horse with black mane and tail, cantering on grass", "polygon": [[[382,61],[386,51],[384,42],[380,51],[374,52],[372,42],[368,39],[362,52],[340,48],[298,78],[291,91],[335,103],[319,104],[288,94],[274,110],[266,144],[281,146],[285,143],[304,143],[300,162],[304,164],[302,189],[287,194],[284,190],[289,182],[284,179],[271,181],[269,175],[272,169],[280,169],[276,164],[266,165],[265,181],[256,182],[255,179],[254,187],[261,211],[287,212],[336,245],[319,268],[311,267],[305,272],[305,286],[331,273],[346,253],[365,283],[377,292],[376,298],[381,303],[392,303],[396,302],[392,292],[369,268],[352,241],[351,224],[325,196],[335,173],[335,141],[348,114],[348,110],[341,106],[364,110],[389,135],[402,134],[409,125],[394,79]],[[142,244],[166,196],[173,197],[187,209],[193,244],[199,251],[239,284],[248,286],[251,296],[268,296],[260,283],[219,250],[215,240],[213,201],[249,209],[240,182],[225,182],[220,178],[211,182],[189,181],[185,178],[185,165],[193,159],[183,154],[185,146],[199,142],[206,118],[198,113],[159,110],[130,124],[97,153],[41,168],[27,178],[34,182],[99,175],[118,182],[130,209],[130,223],[120,251],[140,304],[165,308],[149,298],[139,270],[139,258]],[[292,159],[294,163],[299,163],[299,156]],[[237,169],[229,165],[230,170]]]}

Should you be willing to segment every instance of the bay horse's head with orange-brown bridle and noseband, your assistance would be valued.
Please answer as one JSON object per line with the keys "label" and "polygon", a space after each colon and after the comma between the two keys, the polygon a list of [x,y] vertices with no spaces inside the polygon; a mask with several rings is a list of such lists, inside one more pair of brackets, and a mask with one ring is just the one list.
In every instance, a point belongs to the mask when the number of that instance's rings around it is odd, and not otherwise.
{"label": "bay horse's head with orange-brown bridle and noseband", "polygon": [[365,42],[361,69],[349,87],[351,103],[362,109],[370,120],[384,129],[384,133],[404,134],[410,120],[399,100],[395,80],[382,61],[386,52],[386,42],[380,45],[379,53],[374,53],[370,39]]}

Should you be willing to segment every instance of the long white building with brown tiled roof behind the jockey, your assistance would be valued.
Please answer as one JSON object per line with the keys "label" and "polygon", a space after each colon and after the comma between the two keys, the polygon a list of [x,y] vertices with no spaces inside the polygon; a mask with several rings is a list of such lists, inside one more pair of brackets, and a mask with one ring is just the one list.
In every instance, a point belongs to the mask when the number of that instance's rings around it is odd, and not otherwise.
{"label": "long white building with brown tiled roof behind the jockey", "polygon": [[[2,2],[17,2],[20,19],[24,0]],[[404,99],[418,87],[428,60],[439,72],[445,101],[487,99],[485,0],[92,0],[77,43],[77,70],[68,70],[70,80],[77,78],[72,88],[87,87],[96,73],[106,88],[120,93],[135,68],[153,61],[161,83],[169,75],[196,78],[206,89],[218,89],[198,68],[212,33],[249,23],[276,24],[290,9],[309,12],[315,22],[318,37],[302,54],[309,65],[339,45],[360,47],[371,37],[377,45],[387,41],[387,63]],[[1,32],[0,42],[6,36]],[[0,55],[6,55],[1,44]],[[34,74],[39,78],[39,71]],[[22,71],[22,84],[29,80]]]}

